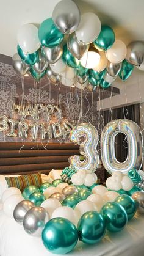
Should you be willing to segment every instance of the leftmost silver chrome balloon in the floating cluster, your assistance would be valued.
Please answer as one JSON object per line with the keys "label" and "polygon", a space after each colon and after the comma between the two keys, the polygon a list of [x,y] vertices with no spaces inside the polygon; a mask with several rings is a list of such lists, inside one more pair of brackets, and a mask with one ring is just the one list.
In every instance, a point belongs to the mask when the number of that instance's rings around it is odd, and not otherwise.
{"label": "leftmost silver chrome balloon in the floating cluster", "polygon": [[26,75],[26,73],[30,70],[30,65],[24,63],[24,61],[20,58],[18,53],[15,53],[12,57],[12,66],[16,73],[21,76]]}

